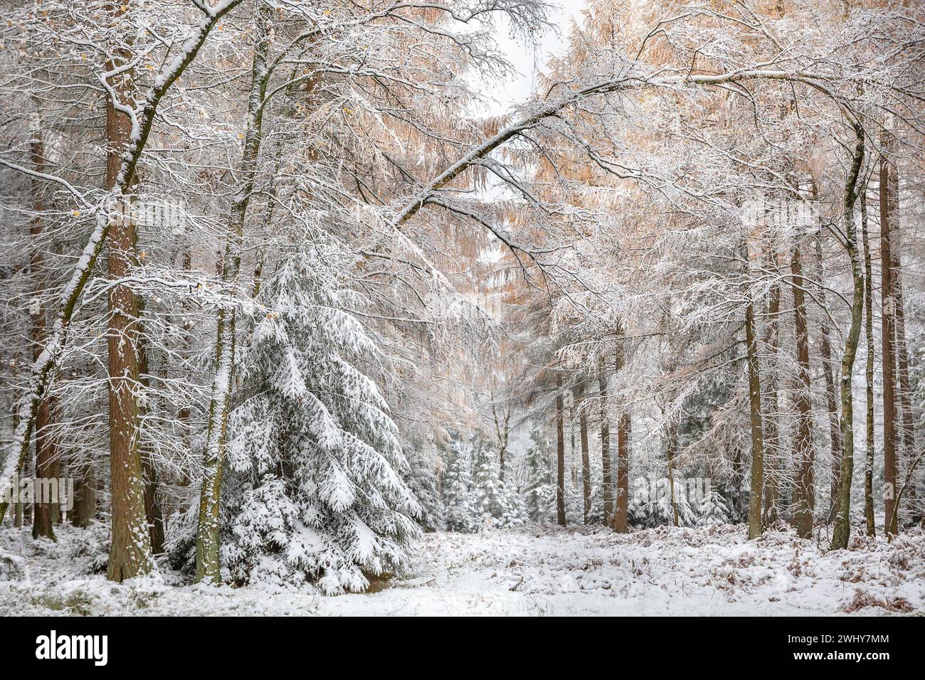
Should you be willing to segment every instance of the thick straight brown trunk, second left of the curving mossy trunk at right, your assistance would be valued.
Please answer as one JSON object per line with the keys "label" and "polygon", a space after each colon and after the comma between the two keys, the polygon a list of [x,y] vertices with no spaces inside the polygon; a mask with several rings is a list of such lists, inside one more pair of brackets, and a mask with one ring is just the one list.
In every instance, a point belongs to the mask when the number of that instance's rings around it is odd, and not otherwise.
{"label": "thick straight brown trunk, second left of the curving mossy trunk at right", "polygon": [[812,403],[809,383],[809,333],[804,291],[803,264],[800,257],[800,243],[794,246],[790,263],[794,289],[794,326],[796,328],[796,436],[794,437],[794,498],[793,520],[796,534],[800,538],[812,537],[813,513],[816,509],[814,483],[814,452],[812,446]]}

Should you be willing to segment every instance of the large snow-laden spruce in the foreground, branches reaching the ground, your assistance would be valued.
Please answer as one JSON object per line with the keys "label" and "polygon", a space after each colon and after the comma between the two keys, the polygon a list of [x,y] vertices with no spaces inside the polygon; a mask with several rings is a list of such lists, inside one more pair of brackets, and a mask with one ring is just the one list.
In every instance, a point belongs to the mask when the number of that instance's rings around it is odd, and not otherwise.
{"label": "large snow-laden spruce in the foreground, branches reaching the ground", "polygon": [[265,282],[229,423],[229,472],[253,484],[228,499],[240,502],[222,550],[235,582],[363,590],[366,575],[401,570],[420,533],[398,429],[358,368],[376,342],[347,311],[338,252],[302,245]]}

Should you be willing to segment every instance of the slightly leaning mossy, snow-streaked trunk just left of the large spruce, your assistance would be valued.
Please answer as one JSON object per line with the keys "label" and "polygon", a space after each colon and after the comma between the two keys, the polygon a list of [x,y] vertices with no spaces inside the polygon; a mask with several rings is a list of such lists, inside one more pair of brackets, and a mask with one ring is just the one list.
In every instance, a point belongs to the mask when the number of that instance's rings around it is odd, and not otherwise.
{"label": "slightly leaning mossy, snow-streaked trunk just left of the large spruce", "polygon": [[[221,278],[226,286],[233,286],[240,272],[240,246],[244,236],[244,220],[251,201],[257,177],[257,159],[263,132],[264,98],[270,77],[267,56],[272,42],[272,8],[261,4],[255,19],[253,68],[251,91],[248,96],[247,129],[244,132],[244,149],[241,157],[240,191],[231,205],[228,224],[228,244],[225,249]],[[235,358],[235,310],[221,307],[218,310],[214,377],[209,400],[208,427],[203,461],[203,488],[199,501],[199,526],[196,531],[196,581],[219,583],[219,525],[218,511],[221,502],[222,471],[225,465],[226,436]]]}

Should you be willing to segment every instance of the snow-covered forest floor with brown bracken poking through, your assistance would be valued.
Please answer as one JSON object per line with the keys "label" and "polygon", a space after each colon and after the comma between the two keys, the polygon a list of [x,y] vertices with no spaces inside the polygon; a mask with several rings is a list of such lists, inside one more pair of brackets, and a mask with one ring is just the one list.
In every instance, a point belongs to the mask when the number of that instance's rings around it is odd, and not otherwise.
{"label": "snow-covered forest floor with brown bracken poking through", "polygon": [[118,586],[81,575],[80,533],[63,527],[51,543],[0,532],[0,615],[925,614],[921,529],[892,544],[856,532],[833,552],[790,530],[747,541],[742,525],[428,534],[409,574],[339,597],[183,585],[168,571]]}

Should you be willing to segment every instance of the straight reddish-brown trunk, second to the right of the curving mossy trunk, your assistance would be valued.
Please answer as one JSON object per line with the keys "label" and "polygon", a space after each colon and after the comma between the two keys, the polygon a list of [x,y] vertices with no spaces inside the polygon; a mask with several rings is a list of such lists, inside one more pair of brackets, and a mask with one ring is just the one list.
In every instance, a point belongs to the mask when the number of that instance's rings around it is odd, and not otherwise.
{"label": "straight reddish-brown trunk, second to the right of the curving mossy trunk", "polygon": [[[884,146],[889,144],[884,137]],[[892,229],[896,206],[896,192],[893,173],[885,155],[880,157],[880,271],[882,309],[882,367],[883,367],[883,489],[884,526],[888,534],[896,533],[894,499],[896,495],[896,377],[894,356],[895,299],[893,289]]]}

